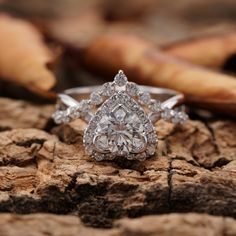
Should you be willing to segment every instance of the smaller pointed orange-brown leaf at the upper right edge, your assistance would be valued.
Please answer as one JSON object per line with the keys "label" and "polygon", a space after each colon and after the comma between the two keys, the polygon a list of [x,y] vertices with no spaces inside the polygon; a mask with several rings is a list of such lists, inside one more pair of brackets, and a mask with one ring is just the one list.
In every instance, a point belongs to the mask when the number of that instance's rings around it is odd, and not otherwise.
{"label": "smaller pointed orange-brown leaf at the upper right edge", "polygon": [[194,64],[219,68],[236,53],[236,31],[183,41],[164,50]]}

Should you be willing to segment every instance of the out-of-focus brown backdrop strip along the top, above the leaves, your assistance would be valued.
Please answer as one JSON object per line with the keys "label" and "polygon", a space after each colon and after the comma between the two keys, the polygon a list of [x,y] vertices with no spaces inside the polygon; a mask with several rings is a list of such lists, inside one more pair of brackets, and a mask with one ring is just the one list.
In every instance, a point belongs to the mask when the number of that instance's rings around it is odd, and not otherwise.
{"label": "out-of-focus brown backdrop strip along the top, above the leaves", "polygon": [[0,10],[41,23],[70,43],[126,32],[163,45],[235,27],[234,0],[1,0]]}

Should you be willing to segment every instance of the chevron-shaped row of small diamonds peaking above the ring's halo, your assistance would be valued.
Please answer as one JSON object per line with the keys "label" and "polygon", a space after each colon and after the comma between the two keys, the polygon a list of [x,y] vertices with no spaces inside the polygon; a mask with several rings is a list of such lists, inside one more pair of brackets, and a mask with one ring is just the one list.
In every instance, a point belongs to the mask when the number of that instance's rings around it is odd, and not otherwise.
{"label": "chevron-shaped row of small diamonds peaking above the ring's halo", "polygon": [[148,108],[150,111],[149,118],[153,123],[159,119],[164,119],[174,124],[183,124],[188,119],[185,112],[169,109],[168,107],[162,106],[160,101],[151,99],[151,95],[141,91],[136,83],[128,82],[127,77],[120,70],[113,82],[103,84],[98,91],[94,91],[90,95],[90,99],[81,100],[77,105],[68,107],[67,109],[57,109],[53,114],[55,123],[68,123],[77,118],[89,122],[93,116],[94,106],[100,106],[108,97],[120,91],[121,87],[131,97],[138,98],[140,105]]}

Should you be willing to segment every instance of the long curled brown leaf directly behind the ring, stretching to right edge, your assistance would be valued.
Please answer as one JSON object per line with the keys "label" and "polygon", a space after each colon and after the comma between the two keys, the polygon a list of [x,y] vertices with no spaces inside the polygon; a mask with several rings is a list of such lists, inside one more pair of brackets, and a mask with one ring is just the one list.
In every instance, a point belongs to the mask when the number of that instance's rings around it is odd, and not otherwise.
{"label": "long curled brown leaf directly behind the ring, stretching to right edge", "polygon": [[87,49],[84,62],[103,73],[123,69],[131,80],[183,92],[189,104],[236,115],[233,76],[193,66],[136,37],[101,37]]}

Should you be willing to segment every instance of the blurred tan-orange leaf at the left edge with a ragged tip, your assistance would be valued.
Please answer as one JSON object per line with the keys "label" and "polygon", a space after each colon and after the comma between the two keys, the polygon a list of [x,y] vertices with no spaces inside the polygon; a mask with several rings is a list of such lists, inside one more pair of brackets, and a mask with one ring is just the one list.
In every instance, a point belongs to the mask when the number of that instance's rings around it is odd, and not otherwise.
{"label": "blurred tan-orange leaf at the left edge with a ragged tip", "polygon": [[56,79],[48,65],[54,58],[41,34],[24,20],[0,15],[0,35],[0,78],[38,94],[50,90]]}

